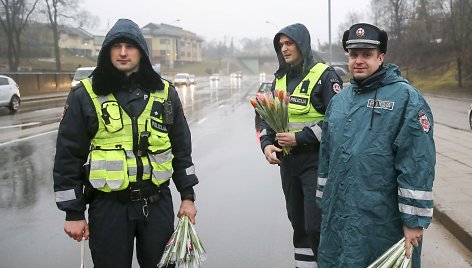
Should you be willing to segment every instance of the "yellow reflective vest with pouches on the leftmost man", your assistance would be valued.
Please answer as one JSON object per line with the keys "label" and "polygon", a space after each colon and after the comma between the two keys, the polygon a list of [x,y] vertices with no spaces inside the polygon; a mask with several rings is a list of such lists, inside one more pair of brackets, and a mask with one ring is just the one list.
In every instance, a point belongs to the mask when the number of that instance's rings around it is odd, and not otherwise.
{"label": "yellow reflective vest with pouches on the leftmost man", "polygon": [[[164,90],[152,92],[142,114],[132,119],[113,94],[98,96],[90,80],[82,80],[98,117],[98,131],[91,141],[87,161],[94,188],[104,192],[126,189],[130,182],[136,182],[139,168],[143,180],[151,179],[158,186],[172,177],[174,156],[164,112],[152,114],[153,105],[163,107],[168,99],[169,83],[163,82]],[[140,142],[147,144],[142,153],[133,146]]]}

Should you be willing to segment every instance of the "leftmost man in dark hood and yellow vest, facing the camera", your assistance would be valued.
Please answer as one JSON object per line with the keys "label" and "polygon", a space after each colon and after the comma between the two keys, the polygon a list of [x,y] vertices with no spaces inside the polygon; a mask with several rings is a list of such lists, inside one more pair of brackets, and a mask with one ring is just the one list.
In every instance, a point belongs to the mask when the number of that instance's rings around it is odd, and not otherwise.
{"label": "leftmost man in dark hood and yellow vest, facing the camera", "polygon": [[198,179],[180,99],[152,69],[138,25],[120,19],[59,126],[54,191],[64,231],[90,238],[95,267],[131,267],[135,239],[140,267],[156,267],[174,228],[170,178],[181,194],[178,216],[195,223]]}

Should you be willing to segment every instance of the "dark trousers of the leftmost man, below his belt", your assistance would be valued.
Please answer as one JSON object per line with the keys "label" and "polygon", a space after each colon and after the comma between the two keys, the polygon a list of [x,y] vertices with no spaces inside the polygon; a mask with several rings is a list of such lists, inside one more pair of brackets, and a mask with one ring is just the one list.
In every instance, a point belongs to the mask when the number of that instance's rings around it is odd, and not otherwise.
{"label": "dark trousers of the leftmost man, below his belt", "polygon": [[[160,198],[122,202],[102,193],[89,206],[90,250],[96,268],[130,268],[136,238],[136,256],[141,268],[155,268],[174,231],[170,189],[161,187]],[[110,198],[109,198],[110,197]],[[174,267],[174,266],[168,266]]]}

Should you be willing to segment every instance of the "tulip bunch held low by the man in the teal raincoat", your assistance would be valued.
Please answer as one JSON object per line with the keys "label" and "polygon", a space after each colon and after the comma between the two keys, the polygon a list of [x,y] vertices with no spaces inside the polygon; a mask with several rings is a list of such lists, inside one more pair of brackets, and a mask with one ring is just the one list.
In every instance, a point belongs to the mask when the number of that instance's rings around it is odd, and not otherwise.
{"label": "tulip bunch held low by the man in the teal raincoat", "polygon": [[[410,253],[413,255],[413,245],[410,248]],[[402,238],[367,268],[410,268],[412,255],[409,259],[406,258],[405,238]]]}

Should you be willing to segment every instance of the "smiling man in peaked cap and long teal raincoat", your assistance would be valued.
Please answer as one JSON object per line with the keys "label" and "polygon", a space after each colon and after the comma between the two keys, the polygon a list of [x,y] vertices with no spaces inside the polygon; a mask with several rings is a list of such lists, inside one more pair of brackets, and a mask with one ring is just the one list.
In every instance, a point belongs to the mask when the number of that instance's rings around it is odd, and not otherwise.
{"label": "smiling man in peaked cap and long teal raincoat", "polygon": [[399,68],[384,64],[387,41],[367,23],[343,35],[352,79],[323,124],[318,267],[367,267],[402,238],[407,257],[414,246],[412,267],[421,267],[433,215],[433,115]]}

